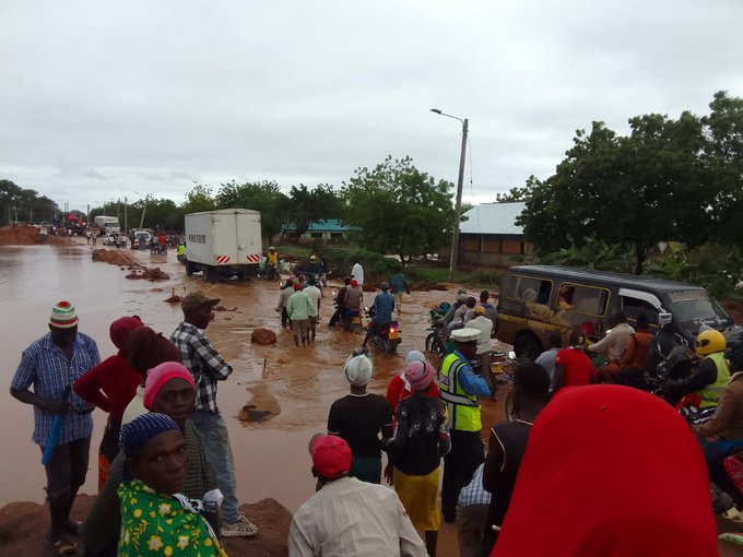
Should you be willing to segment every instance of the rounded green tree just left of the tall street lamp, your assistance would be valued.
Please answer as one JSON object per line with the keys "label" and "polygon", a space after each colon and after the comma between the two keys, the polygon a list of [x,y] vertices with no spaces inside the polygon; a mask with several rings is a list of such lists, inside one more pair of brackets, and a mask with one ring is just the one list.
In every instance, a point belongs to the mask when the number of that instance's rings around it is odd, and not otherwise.
{"label": "rounded green tree just left of the tall street lamp", "polygon": [[347,224],[362,247],[401,261],[447,244],[453,220],[452,183],[391,156],[374,169],[357,168],[344,185]]}

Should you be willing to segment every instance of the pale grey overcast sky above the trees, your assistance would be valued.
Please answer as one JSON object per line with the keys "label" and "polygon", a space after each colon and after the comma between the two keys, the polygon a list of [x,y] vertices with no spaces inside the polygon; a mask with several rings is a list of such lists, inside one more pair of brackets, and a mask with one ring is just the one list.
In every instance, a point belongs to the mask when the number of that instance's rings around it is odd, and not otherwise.
{"label": "pale grey overcast sky above the trees", "polygon": [[0,178],[70,209],[193,181],[347,180],[391,154],[464,201],[575,130],[743,96],[741,0],[0,2]]}

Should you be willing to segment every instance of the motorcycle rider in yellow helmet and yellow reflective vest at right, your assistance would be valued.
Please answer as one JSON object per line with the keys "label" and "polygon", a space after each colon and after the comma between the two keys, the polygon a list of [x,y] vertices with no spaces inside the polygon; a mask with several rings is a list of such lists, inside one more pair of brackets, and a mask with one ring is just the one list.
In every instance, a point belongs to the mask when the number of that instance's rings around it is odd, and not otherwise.
{"label": "motorcycle rider in yellow helmet and yellow reflective vest at right", "polygon": [[701,399],[700,408],[717,405],[722,389],[730,382],[730,369],[724,359],[726,340],[720,331],[701,331],[694,343],[695,354],[701,358],[692,374],[677,381],[668,381],[662,391],[672,398],[696,392]]}

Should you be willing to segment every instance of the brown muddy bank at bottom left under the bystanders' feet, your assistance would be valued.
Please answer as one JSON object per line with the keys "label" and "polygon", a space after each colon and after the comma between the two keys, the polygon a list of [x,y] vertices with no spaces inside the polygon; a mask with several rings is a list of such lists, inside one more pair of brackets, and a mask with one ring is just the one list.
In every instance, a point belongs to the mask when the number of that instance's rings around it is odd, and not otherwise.
{"label": "brown muddy bank at bottom left under the bystanders' feet", "polygon": [[[81,495],[72,510],[75,520],[82,520],[93,506],[95,497]],[[273,499],[244,505],[243,510],[259,532],[251,538],[225,540],[227,555],[256,557],[285,557],[288,554],[286,536],[292,514]],[[11,502],[0,509],[0,555],[13,557],[47,557],[51,555],[44,542],[49,525],[49,511],[35,502]],[[79,550],[78,555],[82,555]]]}

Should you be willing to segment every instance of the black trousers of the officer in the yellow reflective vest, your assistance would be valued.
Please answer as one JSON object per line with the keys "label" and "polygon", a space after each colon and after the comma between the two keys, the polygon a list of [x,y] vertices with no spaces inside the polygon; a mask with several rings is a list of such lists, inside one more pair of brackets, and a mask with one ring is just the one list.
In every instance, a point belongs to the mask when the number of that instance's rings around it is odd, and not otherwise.
{"label": "black trousers of the officer in the yellow reflective vest", "polygon": [[444,457],[441,514],[447,522],[457,520],[457,499],[462,488],[472,481],[474,471],[485,462],[480,431],[449,431],[451,450]]}

